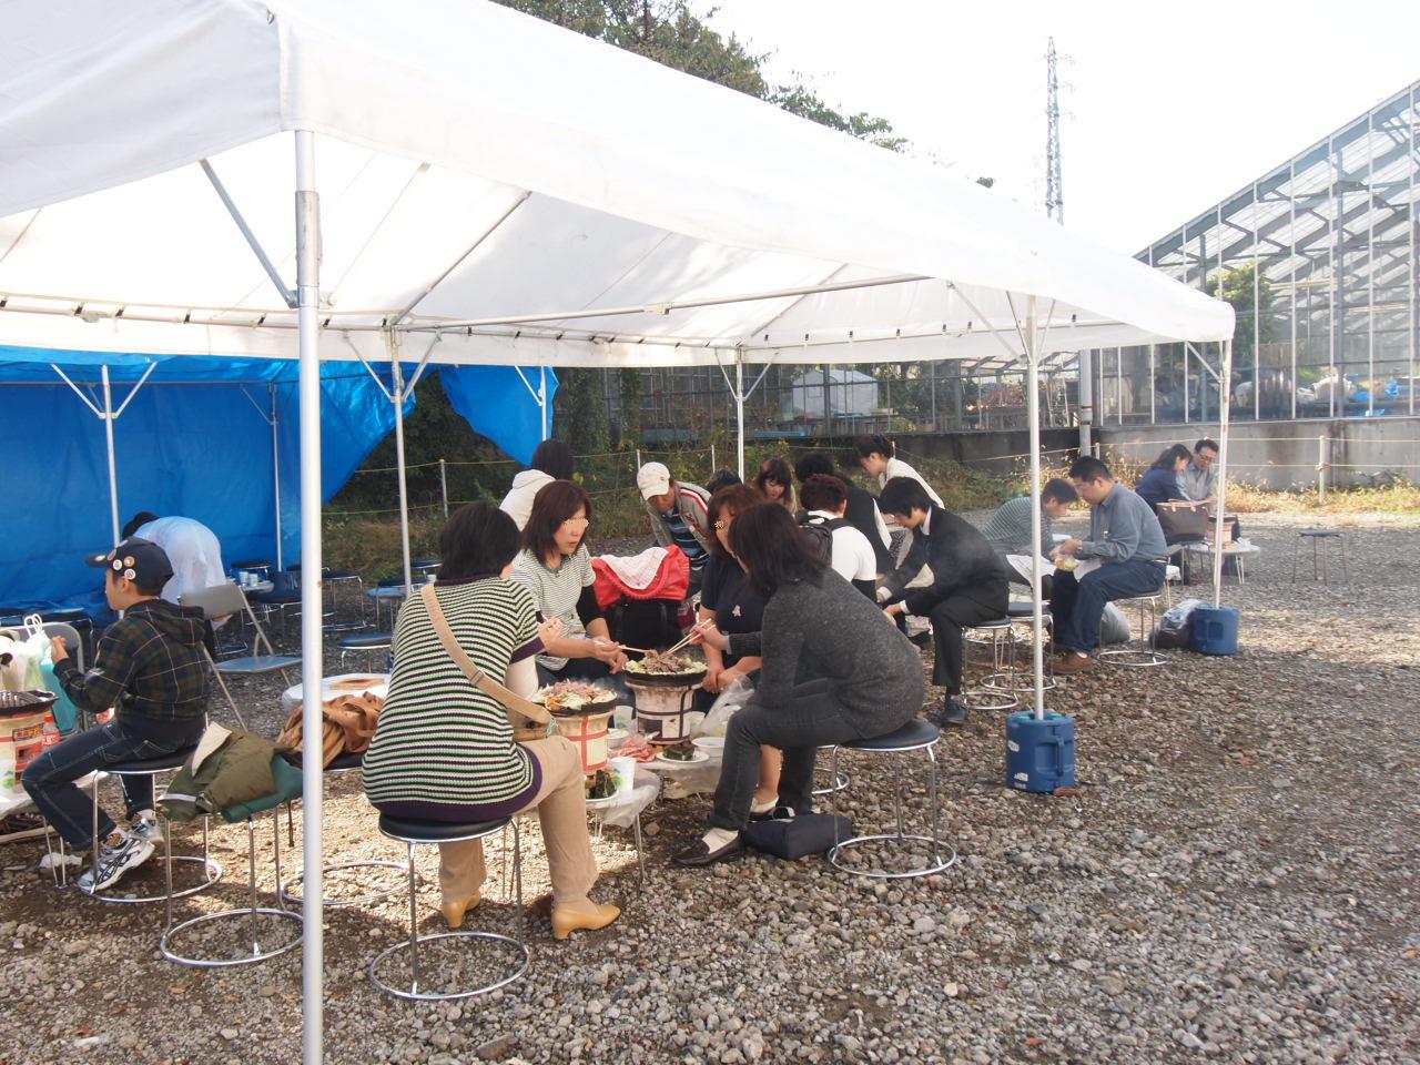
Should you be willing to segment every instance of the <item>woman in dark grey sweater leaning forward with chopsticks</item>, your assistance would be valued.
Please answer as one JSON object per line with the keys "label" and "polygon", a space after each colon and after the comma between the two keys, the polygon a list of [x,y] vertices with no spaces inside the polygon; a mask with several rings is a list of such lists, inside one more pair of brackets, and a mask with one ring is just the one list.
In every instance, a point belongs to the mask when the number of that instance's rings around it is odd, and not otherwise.
{"label": "woman in dark grey sweater leaning forward with chopsticks", "polygon": [[760,775],[760,747],[784,751],[780,805],[812,805],[814,755],[825,744],[895,731],[926,697],[917,649],[848,581],[819,559],[788,511],[761,503],[730,527],[730,550],[765,599],[764,629],[706,640],[760,655],[760,682],[730,719],[710,831],[674,855],[710,865],[744,849],[740,829]]}

